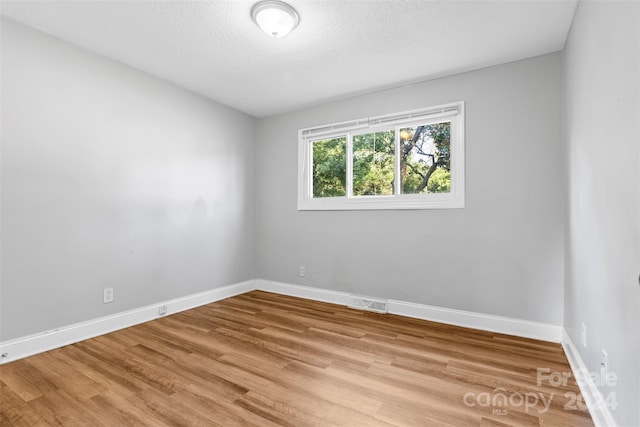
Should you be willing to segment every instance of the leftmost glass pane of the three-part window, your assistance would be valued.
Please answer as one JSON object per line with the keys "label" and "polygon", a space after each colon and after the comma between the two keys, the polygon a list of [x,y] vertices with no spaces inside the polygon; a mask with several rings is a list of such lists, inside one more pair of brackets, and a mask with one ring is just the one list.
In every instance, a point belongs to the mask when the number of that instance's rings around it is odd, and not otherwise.
{"label": "leftmost glass pane of the three-part window", "polygon": [[347,194],[347,138],[313,142],[313,197]]}

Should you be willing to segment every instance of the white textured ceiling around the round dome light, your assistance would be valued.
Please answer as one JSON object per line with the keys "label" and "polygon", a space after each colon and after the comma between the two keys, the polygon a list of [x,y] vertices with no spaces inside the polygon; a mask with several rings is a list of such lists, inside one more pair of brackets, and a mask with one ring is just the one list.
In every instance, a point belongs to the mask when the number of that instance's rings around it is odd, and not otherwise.
{"label": "white textured ceiling around the round dome light", "polygon": [[577,0],[2,1],[2,15],[257,117],[562,50]]}

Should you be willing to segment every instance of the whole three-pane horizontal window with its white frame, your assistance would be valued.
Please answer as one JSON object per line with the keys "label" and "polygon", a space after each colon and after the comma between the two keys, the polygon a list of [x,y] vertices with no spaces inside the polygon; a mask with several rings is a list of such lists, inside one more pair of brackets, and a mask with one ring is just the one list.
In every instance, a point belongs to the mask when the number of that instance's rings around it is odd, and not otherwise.
{"label": "whole three-pane horizontal window with its white frame", "polygon": [[299,131],[299,210],[464,207],[464,103]]}

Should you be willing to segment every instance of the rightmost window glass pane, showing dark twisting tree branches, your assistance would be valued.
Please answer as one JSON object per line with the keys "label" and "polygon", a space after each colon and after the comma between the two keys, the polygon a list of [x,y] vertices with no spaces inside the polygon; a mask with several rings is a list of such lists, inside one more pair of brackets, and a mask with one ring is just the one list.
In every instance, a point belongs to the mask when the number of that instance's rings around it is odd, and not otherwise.
{"label": "rightmost window glass pane, showing dark twisting tree branches", "polygon": [[451,189],[451,122],[400,129],[403,194],[448,193]]}

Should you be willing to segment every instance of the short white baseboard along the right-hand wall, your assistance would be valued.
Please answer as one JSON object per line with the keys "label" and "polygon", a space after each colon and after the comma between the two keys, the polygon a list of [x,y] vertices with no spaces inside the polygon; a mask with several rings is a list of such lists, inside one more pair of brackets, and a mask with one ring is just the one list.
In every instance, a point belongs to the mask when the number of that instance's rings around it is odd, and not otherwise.
{"label": "short white baseboard along the right-hand wall", "polygon": [[611,411],[609,411],[609,407],[602,397],[602,393],[598,390],[598,387],[593,381],[593,376],[590,375],[589,369],[587,369],[587,365],[585,365],[582,357],[580,357],[578,349],[564,328],[562,328],[562,347],[567,355],[573,376],[578,382],[580,393],[582,394],[584,403],[589,409],[593,423],[596,427],[615,427],[616,423],[613,420]]}

